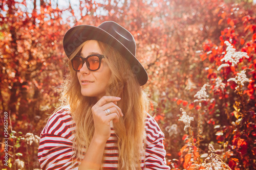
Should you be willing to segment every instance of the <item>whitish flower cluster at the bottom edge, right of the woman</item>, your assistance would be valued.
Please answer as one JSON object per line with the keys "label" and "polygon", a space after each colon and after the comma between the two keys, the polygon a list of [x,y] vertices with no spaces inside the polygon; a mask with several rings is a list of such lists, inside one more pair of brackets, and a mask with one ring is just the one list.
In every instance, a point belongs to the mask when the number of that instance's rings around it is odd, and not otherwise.
{"label": "whitish flower cluster at the bottom edge, right of the woman", "polygon": [[[207,170],[225,170],[230,169],[221,158],[215,154],[215,149],[212,144],[209,144],[209,156],[204,160],[202,164],[196,164],[195,168],[204,167]],[[209,161],[209,162],[207,162]]]}

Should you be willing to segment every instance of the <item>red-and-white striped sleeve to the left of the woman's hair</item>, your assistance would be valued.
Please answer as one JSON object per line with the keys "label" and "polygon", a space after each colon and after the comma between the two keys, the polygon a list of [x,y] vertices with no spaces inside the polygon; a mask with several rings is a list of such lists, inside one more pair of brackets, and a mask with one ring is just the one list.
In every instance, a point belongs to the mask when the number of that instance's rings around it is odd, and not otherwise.
{"label": "red-and-white striped sleeve to the left of the woman's hair", "polygon": [[74,123],[66,109],[53,114],[41,132],[38,159],[43,170],[78,169],[74,158]]}

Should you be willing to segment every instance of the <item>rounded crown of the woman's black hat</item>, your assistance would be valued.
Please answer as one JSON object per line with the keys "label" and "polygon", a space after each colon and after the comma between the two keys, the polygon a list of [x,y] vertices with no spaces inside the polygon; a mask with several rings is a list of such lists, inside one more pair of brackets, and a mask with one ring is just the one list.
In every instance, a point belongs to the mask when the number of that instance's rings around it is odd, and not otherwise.
{"label": "rounded crown of the woman's black hat", "polygon": [[108,32],[116,40],[121,42],[134,56],[136,55],[135,39],[133,35],[122,26],[118,25],[114,21],[105,21],[101,23],[98,28],[104,30],[105,32]]}

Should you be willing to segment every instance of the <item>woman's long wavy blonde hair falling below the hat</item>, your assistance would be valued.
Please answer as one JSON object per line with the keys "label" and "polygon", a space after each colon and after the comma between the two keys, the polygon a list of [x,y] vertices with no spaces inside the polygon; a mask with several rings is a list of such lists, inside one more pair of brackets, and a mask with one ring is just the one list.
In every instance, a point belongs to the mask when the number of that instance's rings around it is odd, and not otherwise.
{"label": "woman's long wavy blonde hair falling below the hat", "polygon": [[[128,61],[121,56],[112,46],[97,41],[106,63],[112,74],[106,87],[105,95],[118,96],[121,100],[118,106],[123,117],[114,124],[117,135],[117,147],[119,152],[118,169],[140,169],[141,157],[144,154],[144,121],[148,109],[148,98],[140,87],[137,78],[132,72]],[[85,42],[84,42],[85,43]],[[73,70],[71,59],[81,51],[82,43],[70,56],[68,62],[70,76],[63,84],[64,90],[61,96],[63,105],[69,105],[72,117],[76,123],[75,140],[73,147],[75,157],[81,161],[84,151],[90,145],[94,133],[94,124],[91,107],[97,102],[96,98],[83,96],[77,78],[77,72]]]}

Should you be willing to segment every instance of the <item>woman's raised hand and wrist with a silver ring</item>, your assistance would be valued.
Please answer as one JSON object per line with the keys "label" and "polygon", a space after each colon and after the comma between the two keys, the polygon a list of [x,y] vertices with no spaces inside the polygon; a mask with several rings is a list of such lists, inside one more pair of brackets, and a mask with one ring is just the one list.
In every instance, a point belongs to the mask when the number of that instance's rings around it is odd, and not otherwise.
{"label": "woman's raised hand and wrist with a silver ring", "polygon": [[[103,96],[93,107],[93,122],[94,122],[94,140],[106,142],[111,134],[110,122],[119,121],[120,116],[123,116],[121,109],[117,106],[117,101],[121,98],[115,96]],[[105,111],[109,109],[108,111]]]}

